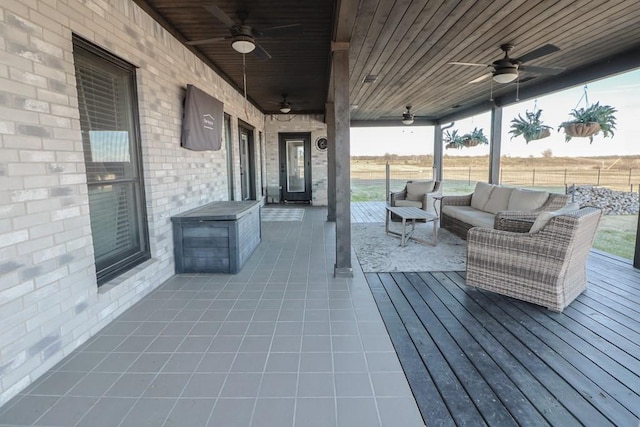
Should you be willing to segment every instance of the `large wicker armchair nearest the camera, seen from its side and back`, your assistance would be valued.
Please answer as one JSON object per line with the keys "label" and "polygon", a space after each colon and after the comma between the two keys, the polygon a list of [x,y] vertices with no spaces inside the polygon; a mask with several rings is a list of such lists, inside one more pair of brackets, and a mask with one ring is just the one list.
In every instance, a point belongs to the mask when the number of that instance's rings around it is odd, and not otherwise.
{"label": "large wicker armchair nearest the camera, seen from its side and back", "polygon": [[467,285],[564,310],[586,289],[587,257],[601,214],[592,207],[557,216],[547,212],[536,220],[546,219],[546,225],[535,224],[528,233],[470,229]]}

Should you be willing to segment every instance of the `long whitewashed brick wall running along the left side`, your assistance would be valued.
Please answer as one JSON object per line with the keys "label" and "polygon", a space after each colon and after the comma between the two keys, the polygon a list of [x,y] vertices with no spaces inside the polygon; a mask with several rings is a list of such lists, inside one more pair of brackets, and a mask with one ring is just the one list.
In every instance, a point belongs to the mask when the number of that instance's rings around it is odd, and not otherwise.
{"label": "long whitewashed brick wall running along the left side", "polygon": [[[152,259],[100,289],[77,109],[73,33],[138,67]],[[238,119],[255,128],[259,147],[258,132],[267,135],[264,116],[245,106],[241,94],[131,0],[2,1],[0,405],[173,274],[172,215],[227,200],[228,142],[216,152],[180,148],[187,83],[224,102],[232,117],[236,163]],[[314,120],[312,126],[314,137],[323,133],[321,123]],[[277,138],[277,129],[270,129]],[[266,141],[268,147],[269,137]],[[238,198],[237,164],[234,170]],[[260,171],[256,176],[259,180]],[[256,187],[259,193],[259,181]],[[326,194],[315,197],[326,199]]]}

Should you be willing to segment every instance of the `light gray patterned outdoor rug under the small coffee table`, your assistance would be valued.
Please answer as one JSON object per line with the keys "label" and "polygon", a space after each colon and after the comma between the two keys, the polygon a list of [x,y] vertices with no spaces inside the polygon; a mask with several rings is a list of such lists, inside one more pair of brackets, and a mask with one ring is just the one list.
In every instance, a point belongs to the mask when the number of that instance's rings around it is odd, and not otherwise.
{"label": "light gray patterned outdoor rug under the small coffee table", "polygon": [[[390,225],[391,230],[398,232],[401,227],[399,223]],[[431,240],[432,232],[433,223],[420,223],[413,236]],[[409,240],[402,247],[400,237],[387,235],[382,223],[352,224],[351,245],[365,273],[463,271],[466,268],[466,242],[442,228],[438,229],[437,246]]]}

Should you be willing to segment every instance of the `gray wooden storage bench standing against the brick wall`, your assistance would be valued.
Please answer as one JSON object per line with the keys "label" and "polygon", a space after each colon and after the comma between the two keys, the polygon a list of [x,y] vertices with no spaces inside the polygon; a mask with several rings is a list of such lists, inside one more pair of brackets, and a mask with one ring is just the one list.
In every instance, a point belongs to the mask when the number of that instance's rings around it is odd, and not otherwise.
{"label": "gray wooden storage bench standing against the brick wall", "polygon": [[176,273],[238,273],[260,244],[260,202],[213,202],[171,218]]}

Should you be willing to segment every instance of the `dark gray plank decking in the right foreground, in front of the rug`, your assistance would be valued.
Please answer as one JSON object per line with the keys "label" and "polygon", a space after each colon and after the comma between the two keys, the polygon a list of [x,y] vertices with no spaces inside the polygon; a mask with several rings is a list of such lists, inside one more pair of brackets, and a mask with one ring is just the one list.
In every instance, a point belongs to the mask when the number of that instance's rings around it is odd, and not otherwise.
{"label": "dark gray plank decking in the right foreground, in front of the rug", "polygon": [[640,270],[596,252],[588,270],[563,313],[464,272],[368,273],[425,423],[637,427]]}

